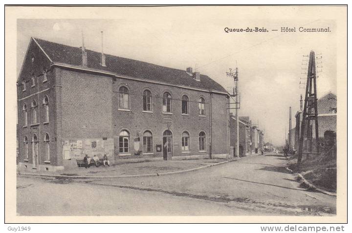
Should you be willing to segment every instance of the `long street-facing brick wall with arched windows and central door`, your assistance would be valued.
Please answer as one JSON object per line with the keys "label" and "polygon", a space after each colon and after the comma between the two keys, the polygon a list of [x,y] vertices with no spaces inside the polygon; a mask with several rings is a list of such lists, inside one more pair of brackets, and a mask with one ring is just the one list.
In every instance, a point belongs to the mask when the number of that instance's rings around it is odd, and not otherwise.
{"label": "long street-facing brick wall with arched windows and central door", "polygon": [[[210,146],[209,94],[169,85],[150,84],[133,80],[117,79],[95,74],[58,69],[57,76],[62,85],[62,143],[64,150],[70,144],[79,141],[102,141],[113,138],[113,151],[110,159],[136,157],[162,157],[162,151],[156,152],[156,145],[162,145],[162,135],[166,129],[173,134],[173,156],[207,155]],[[190,77],[191,78],[191,77]],[[129,89],[130,109],[119,110],[119,88]],[[152,93],[152,112],[143,112],[143,91]],[[162,95],[169,92],[172,96],[172,114],[162,112]],[[181,98],[189,98],[189,114],[181,114]],[[205,116],[198,114],[198,99],[205,100]],[[228,121],[224,95],[213,95],[213,154],[228,153]],[[222,109],[223,108],[223,109]],[[165,119],[167,118],[167,119]],[[171,124],[166,124],[171,123]],[[130,155],[119,153],[119,134],[127,130],[130,134]],[[143,133],[149,130],[153,134],[153,154],[138,154],[143,148]],[[182,152],[181,135],[187,131],[190,135],[189,151]],[[199,151],[199,132],[206,135],[206,151]],[[139,139],[139,141],[138,141]],[[98,142],[99,143],[99,142]],[[103,154],[94,150],[96,153]],[[103,151],[103,150],[102,150]],[[62,152],[64,156],[65,151]],[[76,152],[71,149],[71,157]],[[81,152],[83,156],[86,151]],[[59,153],[58,153],[59,154]],[[89,154],[90,155],[90,154]],[[77,155],[79,157],[79,155]]]}

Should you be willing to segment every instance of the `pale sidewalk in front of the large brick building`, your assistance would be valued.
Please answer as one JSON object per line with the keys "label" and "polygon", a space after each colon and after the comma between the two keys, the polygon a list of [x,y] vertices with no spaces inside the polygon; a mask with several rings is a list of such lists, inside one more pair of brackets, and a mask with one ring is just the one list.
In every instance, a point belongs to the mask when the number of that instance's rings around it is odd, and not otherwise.
{"label": "pale sidewalk in front of the large brick building", "polygon": [[[125,175],[146,175],[165,172],[176,172],[188,169],[196,169],[203,166],[215,165],[217,163],[231,161],[233,159],[182,159],[182,160],[143,160],[126,161],[123,164],[110,165],[110,167],[70,168],[58,172],[31,172],[33,174],[46,175],[68,175],[68,176],[125,176]],[[20,173],[30,173],[21,172]]]}

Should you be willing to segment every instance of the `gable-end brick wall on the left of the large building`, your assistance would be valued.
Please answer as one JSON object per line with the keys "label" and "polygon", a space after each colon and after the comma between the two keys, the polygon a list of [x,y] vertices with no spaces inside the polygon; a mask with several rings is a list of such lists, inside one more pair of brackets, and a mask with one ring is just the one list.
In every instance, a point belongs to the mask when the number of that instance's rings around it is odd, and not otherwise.
{"label": "gable-end brick wall on the left of the large building", "polygon": [[[34,55],[34,61],[32,62],[32,55]],[[46,77],[47,81],[44,81],[44,69],[47,69]],[[35,85],[32,86],[31,77],[34,74]],[[26,90],[22,91],[22,81],[26,81]],[[19,136],[19,162],[23,165],[31,167],[33,164],[33,150],[35,143],[32,143],[32,137],[34,135],[38,138],[38,162],[39,165],[57,165],[56,156],[56,142],[55,142],[55,96],[53,93],[53,85],[55,85],[54,70],[49,69],[49,60],[46,58],[44,53],[36,45],[35,42],[31,42],[28,47],[27,56],[24,58],[22,72],[19,76],[17,85],[17,99],[18,99],[18,136]],[[48,98],[49,108],[49,119],[46,121],[46,111],[43,106],[44,96]],[[37,124],[32,124],[32,102],[36,102],[36,117]],[[23,105],[27,105],[27,126],[24,123],[24,112],[22,111]],[[49,135],[49,154],[50,163],[48,161],[47,143],[44,142],[45,134]],[[28,138],[28,161],[25,161],[25,146],[23,144],[24,137]],[[37,166],[38,167],[38,166]]]}

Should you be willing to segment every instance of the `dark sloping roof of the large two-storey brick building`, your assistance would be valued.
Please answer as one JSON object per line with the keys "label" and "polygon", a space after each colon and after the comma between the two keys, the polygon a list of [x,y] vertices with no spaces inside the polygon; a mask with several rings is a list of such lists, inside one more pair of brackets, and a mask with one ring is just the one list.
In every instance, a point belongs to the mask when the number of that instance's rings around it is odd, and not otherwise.
{"label": "dark sloping roof of the large two-storey brick building", "polygon": [[[53,63],[82,66],[82,49],[60,43],[32,38],[37,42]],[[217,82],[206,75],[200,75],[200,82],[195,80],[186,70],[174,69],[156,64],[136,61],[105,54],[106,67],[100,65],[101,53],[86,49],[88,68],[108,71],[116,75],[163,82],[172,85],[182,85],[206,90],[227,93]]]}

